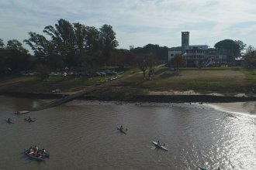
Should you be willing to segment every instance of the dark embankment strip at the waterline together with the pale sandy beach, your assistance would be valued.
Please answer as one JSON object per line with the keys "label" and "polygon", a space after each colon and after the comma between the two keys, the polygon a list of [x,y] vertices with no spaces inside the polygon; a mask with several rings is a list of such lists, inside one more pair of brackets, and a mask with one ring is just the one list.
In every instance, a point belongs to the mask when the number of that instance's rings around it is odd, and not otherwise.
{"label": "dark embankment strip at the waterline together with the pale sandy beach", "polygon": [[[18,97],[28,99],[54,99],[59,100],[63,97],[62,93],[21,93],[21,92],[1,92],[0,96]],[[66,95],[69,96],[69,95]],[[256,117],[256,97],[225,97],[215,95],[137,95],[132,98],[106,98],[96,96],[78,97],[77,100],[85,101],[100,101],[100,102],[115,102],[115,104],[142,103],[148,104],[202,104],[202,106],[213,107],[222,112],[231,114],[249,115]]]}

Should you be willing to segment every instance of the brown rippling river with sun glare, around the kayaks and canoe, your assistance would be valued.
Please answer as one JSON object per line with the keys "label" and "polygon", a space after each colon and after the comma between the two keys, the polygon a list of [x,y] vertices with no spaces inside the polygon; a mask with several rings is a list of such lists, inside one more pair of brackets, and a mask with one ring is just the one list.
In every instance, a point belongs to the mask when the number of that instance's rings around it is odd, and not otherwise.
{"label": "brown rippling river with sun glare, around the kayaks and canoe", "polygon": [[[73,100],[12,114],[49,101],[0,96],[0,169],[256,169],[256,116],[242,110]],[[24,121],[28,116],[36,122]],[[8,117],[15,124],[7,124]],[[116,130],[120,124],[127,134]],[[157,140],[168,151],[154,148]],[[24,155],[33,145],[46,148],[50,158]]]}

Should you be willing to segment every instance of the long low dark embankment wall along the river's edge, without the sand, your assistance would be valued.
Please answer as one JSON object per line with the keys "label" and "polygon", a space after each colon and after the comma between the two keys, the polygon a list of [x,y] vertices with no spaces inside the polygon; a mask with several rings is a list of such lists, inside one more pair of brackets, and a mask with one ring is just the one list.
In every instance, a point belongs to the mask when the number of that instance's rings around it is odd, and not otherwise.
{"label": "long low dark embankment wall along the river's edge, without the sand", "polygon": [[[63,93],[24,93],[24,92],[8,92],[0,91],[0,95],[19,98],[32,99],[60,99]],[[69,94],[65,94],[69,96]],[[155,102],[155,103],[234,103],[256,101],[256,97],[247,96],[222,96],[214,94],[143,94],[130,95],[129,97],[121,95],[106,96],[102,95],[86,95],[78,97],[79,100],[102,100],[102,101],[126,101],[126,102]]]}

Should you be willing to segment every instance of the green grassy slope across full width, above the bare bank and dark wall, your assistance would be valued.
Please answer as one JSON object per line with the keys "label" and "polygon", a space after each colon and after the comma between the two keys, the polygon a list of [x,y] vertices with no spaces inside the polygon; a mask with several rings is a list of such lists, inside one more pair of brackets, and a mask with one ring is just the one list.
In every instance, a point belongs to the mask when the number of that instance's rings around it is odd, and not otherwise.
{"label": "green grassy slope across full width, above the bare bank and dark wall", "polygon": [[[110,77],[99,76],[88,79],[82,76],[70,76],[65,80],[62,76],[51,76],[49,82],[42,82],[37,77],[10,76],[9,79],[6,77],[0,79],[0,90],[50,93],[59,88],[61,92],[72,92],[104,83]],[[147,91],[194,90],[199,93],[234,94],[247,92],[248,89],[254,87],[256,70],[243,68],[182,69],[179,70],[178,75],[175,75],[166,67],[159,67],[155,70],[152,80],[143,80],[140,70],[133,69],[126,71],[118,80],[112,82],[119,85],[121,90],[123,88],[123,91],[137,88],[143,93],[147,93]],[[105,91],[111,88],[111,86],[106,87]]]}

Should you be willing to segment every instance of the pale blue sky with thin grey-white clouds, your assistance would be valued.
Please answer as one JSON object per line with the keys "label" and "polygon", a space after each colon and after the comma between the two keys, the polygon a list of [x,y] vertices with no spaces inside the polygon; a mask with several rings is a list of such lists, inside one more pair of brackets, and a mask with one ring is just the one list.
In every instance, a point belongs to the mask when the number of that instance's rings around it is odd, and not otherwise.
{"label": "pale blue sky with thin grey-white clouds", "polygon": [[186,31],[190,45],[233,39],[255,47],[255,9],[255,0],[0,0],[0,39],[6,45],[29,39],[28,32],[46,36],[45,26],[66,19],[98,29],[111,25],[118,49],[181,46]]}

